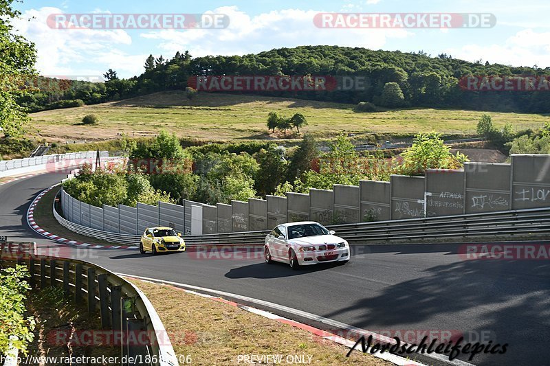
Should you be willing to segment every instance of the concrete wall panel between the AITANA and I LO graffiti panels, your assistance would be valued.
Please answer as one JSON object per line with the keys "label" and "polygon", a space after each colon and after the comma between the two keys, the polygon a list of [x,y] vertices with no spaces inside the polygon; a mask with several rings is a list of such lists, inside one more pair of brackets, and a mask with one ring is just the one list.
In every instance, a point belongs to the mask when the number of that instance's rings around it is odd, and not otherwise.
{"label": "concrete wall panel between the AITANA and I LO graffiti panels", "polygon": [[509,164],[465,163],[464,173],[466,214],[509,209]]}

